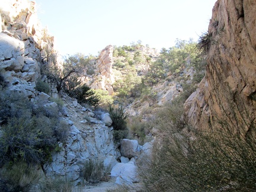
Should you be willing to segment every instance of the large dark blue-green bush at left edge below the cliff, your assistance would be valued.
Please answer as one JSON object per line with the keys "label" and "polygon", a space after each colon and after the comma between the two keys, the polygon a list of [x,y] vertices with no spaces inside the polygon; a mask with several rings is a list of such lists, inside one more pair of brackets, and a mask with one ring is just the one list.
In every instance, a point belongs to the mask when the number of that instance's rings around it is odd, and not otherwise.
{"label": "large dark blue-green bush at left edge below the cliff", "polygon": [[0,101],[0,165],[50,161],[57,142],[65,142],[69,131],[57,109],[33,104],[23,95],[10,92],[1,92]]}

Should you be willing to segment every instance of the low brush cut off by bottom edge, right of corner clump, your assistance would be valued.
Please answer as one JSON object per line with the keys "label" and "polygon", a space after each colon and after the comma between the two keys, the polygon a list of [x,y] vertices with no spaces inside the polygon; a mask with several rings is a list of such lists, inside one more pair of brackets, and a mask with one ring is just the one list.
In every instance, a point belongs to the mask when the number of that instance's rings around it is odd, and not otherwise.
{"label": "low brush cut off by bottom edge, right of corner clump", "polygon": [[69,178],[65,177],[44,178],[34,190],[38,192],[70,192],[73,191],[73,184]]}

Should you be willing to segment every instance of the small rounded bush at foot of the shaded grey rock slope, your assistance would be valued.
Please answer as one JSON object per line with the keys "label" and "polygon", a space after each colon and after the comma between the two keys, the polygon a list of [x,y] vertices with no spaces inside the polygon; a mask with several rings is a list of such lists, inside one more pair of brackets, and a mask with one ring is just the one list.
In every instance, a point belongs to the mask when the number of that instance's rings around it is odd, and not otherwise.
{"label": "small rounded bush at foot of the shaded grey rock slope", "polygon": [[91,160],[85,161],[84,167],[82,168],[81,175],[86,181],[90,183],[98,183],[104,177],[105,168],[103,161]]}

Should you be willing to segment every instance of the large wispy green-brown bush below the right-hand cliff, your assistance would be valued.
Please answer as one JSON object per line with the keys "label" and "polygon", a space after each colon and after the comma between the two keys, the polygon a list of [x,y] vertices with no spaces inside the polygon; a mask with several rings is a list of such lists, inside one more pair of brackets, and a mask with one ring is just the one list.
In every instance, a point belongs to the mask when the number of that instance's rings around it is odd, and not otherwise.
{"label": "large wispy green-brown bush below the right-hand cliff", "polygon": [[[152,159],[140,165],[145,191],[255,191],[255,123],[247,113],[215,116],[211,129],[202,131],[184,123],[177,112],[181,105],[169,108],[152,122],[160,139]],[[246,124],[251,132],[244,130]]]}

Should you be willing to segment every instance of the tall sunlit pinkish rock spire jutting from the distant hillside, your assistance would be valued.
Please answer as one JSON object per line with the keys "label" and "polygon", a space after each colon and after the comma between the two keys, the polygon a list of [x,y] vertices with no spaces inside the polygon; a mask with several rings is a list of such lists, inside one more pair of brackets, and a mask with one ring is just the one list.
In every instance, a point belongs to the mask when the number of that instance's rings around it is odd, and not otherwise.
{"label": "tall sunlit pinkish rock spire jutting from the distant hillside", "polygon": [[100,81],[96,81],[91,85],[93,89],[107,90],[108,94],[113,94],[112,84],[114,76],[112,71],[113,65],[113,46],[109,45],[103,49],[97,60],[97,72],[100,75]]}

